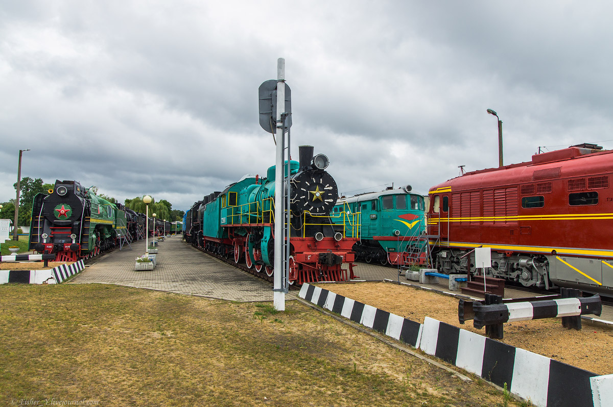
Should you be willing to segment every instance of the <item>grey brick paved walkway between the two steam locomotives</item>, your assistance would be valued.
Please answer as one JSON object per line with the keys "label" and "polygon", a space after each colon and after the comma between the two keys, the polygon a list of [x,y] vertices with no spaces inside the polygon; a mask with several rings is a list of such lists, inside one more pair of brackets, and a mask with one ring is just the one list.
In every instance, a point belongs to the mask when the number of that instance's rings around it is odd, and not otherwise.
{"label": "grey brick paved walkway between the two steam locomotives", "polygon": [[233,301],[272,301],[272,284],[186,245],[180,236],[159,242],[154,270],[136,272],[135,258],[145,241],[101,256],[70,283],[104,283],[142,287]]}

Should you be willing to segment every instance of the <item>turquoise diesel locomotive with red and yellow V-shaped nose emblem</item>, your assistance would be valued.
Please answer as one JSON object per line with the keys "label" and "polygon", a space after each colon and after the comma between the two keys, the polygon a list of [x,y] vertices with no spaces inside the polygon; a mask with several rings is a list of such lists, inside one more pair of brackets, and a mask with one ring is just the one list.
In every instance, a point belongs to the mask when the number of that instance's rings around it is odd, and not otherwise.
{"label": "turquoise diesel locomotive with red and yellow V-shaped nose emblem", "polygon": [[360,213],[360,240],[353,248],[357,260],[382,265],[425,261],[426,242],[420,239],[425,232],[424,197],[411,190],[407,185],[338,199],[333,215]]}

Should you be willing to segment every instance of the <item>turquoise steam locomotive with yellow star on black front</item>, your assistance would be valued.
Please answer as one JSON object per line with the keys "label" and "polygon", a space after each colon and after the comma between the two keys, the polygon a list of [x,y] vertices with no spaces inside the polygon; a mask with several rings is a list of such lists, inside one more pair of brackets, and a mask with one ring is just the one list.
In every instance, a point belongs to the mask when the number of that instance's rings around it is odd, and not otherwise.
{"label": "turquoise steam locomotive with yellow star on black front", "polygon": [[[345,218],[341,224],[332,222],[330,210],[338,189],[325,170],[327,158],[322,154],[313,158],[313,146],[300,146],[299,154],[299,162],[289,162],[289,283],[350,280],[354,278],[351,248],[357,242],[357,216]],[[248,268],[264,269],[272,276],[274,197],[274,165],[268,168],[266,178],[245,175],[224,191],[212,192],[194,203],[185,215],[185,240],[226,257],[234,254],[236,263],[244,258]],[[346,230],[351,231],[349,236]],[[349,263],[349,273],[343,263]]]}

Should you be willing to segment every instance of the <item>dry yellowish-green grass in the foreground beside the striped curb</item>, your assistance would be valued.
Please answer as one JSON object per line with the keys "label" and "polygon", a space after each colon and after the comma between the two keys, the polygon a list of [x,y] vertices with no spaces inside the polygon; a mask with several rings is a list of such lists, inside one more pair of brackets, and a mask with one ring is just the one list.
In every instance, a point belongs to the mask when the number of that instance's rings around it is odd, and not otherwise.
{"label": "dry yellowish-green grass in the foreground beside the striped curb", "polygon": [[[100,405],[496,406],[503,395],[298,302],[102,284],[0,287],[0,400]],[[509,405],[514,405],[512,402]]]}

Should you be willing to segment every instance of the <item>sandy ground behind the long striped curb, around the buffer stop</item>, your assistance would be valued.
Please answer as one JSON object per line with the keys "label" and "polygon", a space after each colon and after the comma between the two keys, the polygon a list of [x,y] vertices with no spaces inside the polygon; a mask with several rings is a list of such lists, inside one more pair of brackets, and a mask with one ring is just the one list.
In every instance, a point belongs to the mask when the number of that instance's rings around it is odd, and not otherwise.
{"label": "sandy ground behind the long striped curb, around the buffer stop", "polygon": [[[458,322],[458,300],[448,295],[390,283],[321,284],[322,287],[417,322],[438,319],[485,336],[472,321]],[[613,330],[582,324],[567,329],[562,319],[536,319],[504,324],[501,342],[568,363],[598,375],[613,373]]]}

